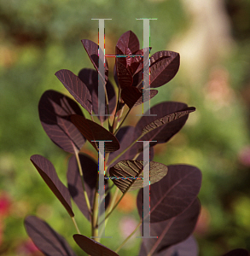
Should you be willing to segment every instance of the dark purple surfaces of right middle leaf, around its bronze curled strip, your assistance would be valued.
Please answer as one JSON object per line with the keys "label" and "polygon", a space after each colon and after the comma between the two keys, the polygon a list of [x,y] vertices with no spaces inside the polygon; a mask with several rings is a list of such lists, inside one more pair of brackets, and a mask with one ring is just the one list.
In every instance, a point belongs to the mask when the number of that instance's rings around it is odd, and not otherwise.
{"label": "dark purple surfaces of right middle leaf, around its bronze curled strip", "polygon": [[[188,106],[180,102],[161,102],[155,105],[153,108],[150,108],[150,113],[157,114],[157,116],[142,116],[136,125],[137,133],[142,134],[142,129],[146,125],[154,122],[155,119],[163,118],[164,116],[182,110],[183,108],[188,108]],[[148,134],[142,137],[142,140],[153,140],[157,141],[157,143],[166,143],[183,128],[183,125],[186,123],[188,117],[189,115],[185,115],[180,119],[176,119],[170,123],[161,125],[159,128],[157,128],[157,130],[149,131]],[[134,139],[137,139],[137,137],[134,137]],[[157,143],[150,143],[150,145],[154,146]]]}

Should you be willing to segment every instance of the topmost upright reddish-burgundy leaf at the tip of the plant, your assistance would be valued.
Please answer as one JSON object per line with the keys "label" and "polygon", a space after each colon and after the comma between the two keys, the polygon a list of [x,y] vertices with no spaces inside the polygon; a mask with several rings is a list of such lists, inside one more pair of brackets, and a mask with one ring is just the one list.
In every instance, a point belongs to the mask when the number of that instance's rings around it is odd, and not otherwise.
{"label": "topmost upright reddish-burgundy leaf at the tip of the plant", "polygon": [[119,37],[119,40],[115,47],[115,54],[119,55],[118,49],[124,54],[127,55],[128,49],[130,49],[132,54],[135,54],[137,50],[140,49],[140,43],[137,38],[137,35],[134,32],[127,31]]}

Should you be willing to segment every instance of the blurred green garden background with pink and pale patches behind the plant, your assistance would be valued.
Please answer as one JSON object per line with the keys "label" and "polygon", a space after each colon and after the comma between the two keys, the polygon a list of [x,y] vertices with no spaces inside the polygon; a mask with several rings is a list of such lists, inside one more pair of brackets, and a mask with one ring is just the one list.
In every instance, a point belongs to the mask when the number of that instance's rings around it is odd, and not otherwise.
{"label": "blurred green garden background with pink and pale patches behind the plant", "polygon": [[[0,255],[41,255],[24,229],[28,214],[44,218],[84,255],[73,241],[67,212],[29,160],[44,155],[67,183],[69,155],[46,136],[38,101],[44,90],[67,94],[56,71],[77,74],[92,67],[80,42],[97,43],[98,21],[92,18],[112,19],[105,32],[107,54],[113,54],[128,30],[142,45],[142,20],[136,20],[141,17],[158,19],[150,23],[152,53],[168,49],[181,55],[179,72],[160,87],[152,106],[178,101],[197,109],[169,143],[155,147],[154,160],[201,169],[202,210],[195,230],[201,256],[250,250],[250,1],[1,0]],[[136,122],[131,114],[127,124]],[[88,145],[83,150],[92,152]],[[73,207],[80,230],[90,236],[90,225]],[[137,221],[136,193],[129,193],[108,222],[106,234],[115,238],[102,242],[115,250]],[[137,256],[139,247],[140,239],[133,238],[119,253]]]}

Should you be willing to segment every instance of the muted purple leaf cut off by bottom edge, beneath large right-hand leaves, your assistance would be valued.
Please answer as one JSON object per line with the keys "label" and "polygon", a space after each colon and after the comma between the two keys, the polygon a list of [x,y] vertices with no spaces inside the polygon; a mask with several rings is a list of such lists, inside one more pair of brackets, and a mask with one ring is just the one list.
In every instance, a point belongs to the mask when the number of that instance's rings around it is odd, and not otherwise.
{"label": "muted purple leaf cut off by bottom edge, beneath large right-hand leaves", "polygon": [[[165,250],[160,251],[160,253],[153,253],[153,256],[198,256],[198,245],[195,241],[194,236],[189,236],[188,239],[177,243],[176,245],[169,247]],[[141,245],[141,250],[139,256],[147,255],[147,251],[144,244]]]}

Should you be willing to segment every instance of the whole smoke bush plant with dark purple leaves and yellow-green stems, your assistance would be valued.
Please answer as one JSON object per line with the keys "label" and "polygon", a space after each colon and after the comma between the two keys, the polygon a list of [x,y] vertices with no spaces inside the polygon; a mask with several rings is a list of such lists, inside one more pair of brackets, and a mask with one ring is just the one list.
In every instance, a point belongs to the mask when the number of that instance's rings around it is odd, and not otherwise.
{"label": "whole smoke bush plant with dark purple leaves and yellow-green stems", "polygon": [[[139,256],[145,255],[198,255],[195,238],[191,236],[195,229],[201,204],[197,199],[201,189],[201,171],[195,166],[165,166],[153,161],[154,145],[166,143],[180,131],[195,108],[189,108],[181,102],[161,102],[150,109],[150,115],[143,114],[136,126],[122,126],[126,117],[137,105],[149,100],[149,95],[142,84],[143,49],[140,49],[137,36],[125,32],[115,47],[116,57],[113,77],[117,86],[116,95],[113,84],[108,80],[108,61],[105,61],[105,113],[110,116],[97,116],[98,113],[98,45],[90,40],[82,40],[84,49],[95,69],[84,68],[78,76],[63,69],[55,76],[67,88],[74,99],[90,113],[86,119],[78,104],[68,96],[55,90],[47,90],[38,104],[39,118],[44,131],[58,147],[73,154],[68,161],[67,187],[57,177],[52,163],[42,155],[32,155],[32,164],[36,167],[49,189],[61,201],[73,219],[78,234],[74,241],[89,255],[119,255],[119,249],[142,226],[143,217],[143,144],[150,143],[150,236],[142,238]],[[120,57],[122,55],[127,55]],[[130,56],[133,55],[133,56]],[[136,56],[135,56],[136,55]],[[160,87],[169,82],[177,73],[179,54],[162,50],[150,57],[150,88]],[[101,76],[101,73],[99,73]],[[157,95],[157,90],[150,90],[150,98]],[[154,115],[152,115],[154,114]],[[108,123],[108,130],[104,125]],[[106,221],[123,196],[132,189],[139,189],[137,210],[141,218],[136,230],[116,249],[103,246],[98,235],[98,163],[90,155],[80,152],[84,143],[89,141],[98,152],[95,141],[105,143],[105,204]],[[111,181],[116,192],[111,195]],[[116,202],[119,189],[123,193]],[[90,221],[91,236],[80,234],[74,219],[71,198],[84,217]],[[105,223],[106,224],[106,223]],[[76,255],[67,241],[57,234],[49,224],[35,216],[25,219],[28,235],[44,255]],[[141,228],[142,232],[142,228]],[[143,233],[142,233],[143,234]],[[85,234],[86,235],[86,234]],[[247,255],[243,249],[236,249],[226,255]]]}

